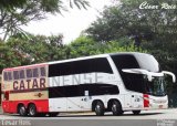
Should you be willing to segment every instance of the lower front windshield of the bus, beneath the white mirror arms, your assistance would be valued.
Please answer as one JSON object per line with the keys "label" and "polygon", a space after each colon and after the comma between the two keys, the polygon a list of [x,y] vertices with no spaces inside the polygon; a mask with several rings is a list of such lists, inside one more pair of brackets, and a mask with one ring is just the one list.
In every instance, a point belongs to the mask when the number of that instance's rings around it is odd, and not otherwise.
{"label": "lower front windshield of the bus, beneath the white mirror arms", "polygon": [[154,95],[154,96],[165,96],[165,80],[164,76],[156,76],[153,78],[152,82],[147,81],[146,83],[146,92],[149,95]]}

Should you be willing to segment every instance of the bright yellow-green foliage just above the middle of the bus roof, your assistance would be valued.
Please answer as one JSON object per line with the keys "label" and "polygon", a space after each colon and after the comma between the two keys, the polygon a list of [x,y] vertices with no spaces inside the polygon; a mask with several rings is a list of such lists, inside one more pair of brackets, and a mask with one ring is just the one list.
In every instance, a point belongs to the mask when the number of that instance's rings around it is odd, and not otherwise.
{"label": "bright yellow-green foliage just above the middle of the bus roof", "polygon": [[128,45],[121,45],[123,42],[127,42],[129,39],[124,38],[118,41],[110,41],[107,43],[98,43],[87,36],[80,36],[73,41],[70,48],[70,57],[87,56],[104,53],[115,52],[146,52],[140,48],[135,48],[131,42]]}

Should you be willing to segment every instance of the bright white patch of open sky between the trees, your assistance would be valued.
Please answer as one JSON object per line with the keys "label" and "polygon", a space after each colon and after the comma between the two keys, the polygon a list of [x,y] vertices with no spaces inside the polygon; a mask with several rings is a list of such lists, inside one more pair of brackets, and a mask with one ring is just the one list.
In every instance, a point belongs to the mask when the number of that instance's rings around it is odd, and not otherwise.
{"label": "bright white patch of open sky between the trees", "polygon": [[41,35],[63,34],[63,43],[70,43],[80,36],[81,32],[96,20],[105,6],[110,6],[112,0],[88,0],[91,8],[80,10],[76,7],[63,12],[63,15],[48,15],[48,19],[32,21],[23,30]]}

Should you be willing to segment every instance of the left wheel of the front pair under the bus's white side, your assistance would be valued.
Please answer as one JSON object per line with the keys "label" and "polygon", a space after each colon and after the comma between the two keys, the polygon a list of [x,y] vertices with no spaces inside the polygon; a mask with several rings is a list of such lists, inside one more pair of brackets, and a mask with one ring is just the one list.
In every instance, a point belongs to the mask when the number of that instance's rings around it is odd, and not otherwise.
{"label": "left wheel of the front pair under the bus's white side", "polygon": [[95,113],[97,116],[103,116],[104,115],[104,104],[102,102],[97,102],[95,105]]}

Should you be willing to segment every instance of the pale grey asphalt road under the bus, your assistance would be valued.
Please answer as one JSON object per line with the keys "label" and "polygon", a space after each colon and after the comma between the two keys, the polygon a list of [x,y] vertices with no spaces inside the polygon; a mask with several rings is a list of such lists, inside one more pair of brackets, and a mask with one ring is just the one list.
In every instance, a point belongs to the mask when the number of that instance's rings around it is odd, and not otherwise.
{"label": "pale grey asphalt road under the bus", "polygon": [[0,114],[0,126],[177,126],[177,108],[131,112],[122,116],[96,116],[94,113],[60,114],[58,117],[21,117]]}

